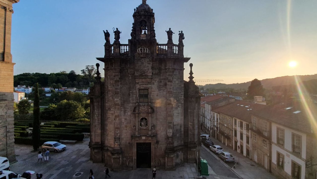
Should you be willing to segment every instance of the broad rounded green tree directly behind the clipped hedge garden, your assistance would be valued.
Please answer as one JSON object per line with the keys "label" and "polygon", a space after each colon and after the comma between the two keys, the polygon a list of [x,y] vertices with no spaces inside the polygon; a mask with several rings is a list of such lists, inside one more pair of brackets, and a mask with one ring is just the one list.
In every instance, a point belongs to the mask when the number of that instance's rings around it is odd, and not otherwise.
{"label": "broad rounded green tree directly behind the clipped hedge garden", "polygon": [[58,120],[73,120],[83,118],[85,109],[76,101],[62,100],[55,108]]}

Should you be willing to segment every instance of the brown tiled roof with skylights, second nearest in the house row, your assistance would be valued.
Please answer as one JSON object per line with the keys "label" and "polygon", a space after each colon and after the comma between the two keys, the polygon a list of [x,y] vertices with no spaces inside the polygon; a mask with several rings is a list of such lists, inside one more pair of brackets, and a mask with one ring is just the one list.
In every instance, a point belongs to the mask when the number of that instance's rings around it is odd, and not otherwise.
{"label": "brown tiled roof with skylights, second nearest in the house row", "polygon": [[228,116],[251,122],[251,112],[256,109],[262,109],[265,106],[266,105],[235,101],[233,103],[213,109],[212,111],[217,113],[221,112]]}

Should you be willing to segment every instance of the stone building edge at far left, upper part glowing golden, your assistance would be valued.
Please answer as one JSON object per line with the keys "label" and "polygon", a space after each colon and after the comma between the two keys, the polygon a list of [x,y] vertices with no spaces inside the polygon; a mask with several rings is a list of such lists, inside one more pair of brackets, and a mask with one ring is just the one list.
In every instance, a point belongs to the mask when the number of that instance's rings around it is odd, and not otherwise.
{"label": "stone building edge at far left, upper part glowing golden", "polygon": [[13,66],[11,54],[12,4],[19,0],[0,1],[0,156],[10,162],[14,153]]}

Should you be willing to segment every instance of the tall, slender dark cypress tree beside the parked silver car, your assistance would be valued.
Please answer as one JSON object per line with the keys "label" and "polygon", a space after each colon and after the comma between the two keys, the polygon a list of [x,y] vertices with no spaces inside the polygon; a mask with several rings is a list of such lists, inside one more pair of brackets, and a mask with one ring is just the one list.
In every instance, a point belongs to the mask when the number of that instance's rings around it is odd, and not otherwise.
{"label": "tall, slender dark cypress tree beside the parked silver car", "polygon": [[40,144],[40,95],[38,83],[36,83],[34,90],[32,141],[33,149],[34,151],[36,151],[39,148]]}

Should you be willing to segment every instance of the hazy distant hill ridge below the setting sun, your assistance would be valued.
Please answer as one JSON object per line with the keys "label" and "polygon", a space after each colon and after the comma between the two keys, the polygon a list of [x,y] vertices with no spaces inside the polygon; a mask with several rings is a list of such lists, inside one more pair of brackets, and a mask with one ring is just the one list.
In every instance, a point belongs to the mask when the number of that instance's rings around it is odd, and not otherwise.
{"label": "hazy distant hill ridge below the setting sun", "polygon": [[[308,81],[317,79],[317,74],[312,75],[295,75],[299,81]],[[263,87],[266,89],[271,89],[273,86],[288,86],[288,85],[295,85],[295,76],[281,76],[276,78],[268,78],[264,80],[260,80]],[[233,88],[233,89],[248,89],[250,86],[251,81],[244,82],[244,83],[233,83],[233,84],[224,84],[224,83],[217,83],[217,84],[207,84],[207,85],[197,85],[199,88],[204,87],[205,89],[226,89],[226,88]]]}

